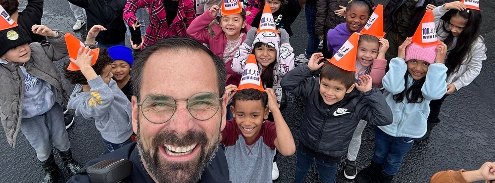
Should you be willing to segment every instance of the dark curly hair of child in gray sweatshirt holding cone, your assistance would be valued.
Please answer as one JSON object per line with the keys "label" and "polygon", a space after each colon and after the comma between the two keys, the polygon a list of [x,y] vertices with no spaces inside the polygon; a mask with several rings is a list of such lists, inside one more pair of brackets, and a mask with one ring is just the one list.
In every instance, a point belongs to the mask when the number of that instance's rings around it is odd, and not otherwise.
{"label": "dark curly hair of child in gray sweatshirt holding cone", "polygon": [[[99,50],[99,56],[98,59],[96,60],[95,65],[91,66],[95,70],[95,72],[100,75],[101,72],[103,72],[103,69],[110,65],[112,61],[112,58],[108,54],[108,51],[106,49],[100,49]],[[69,66],[69,62],[65,63],[64,68],[67,68]],[[81,84],[81,85],[88,85],[88,80],[84,77],[83,73],[81,71],[69,71],[65,70],[65,78],[69,80],[71,84]]]}

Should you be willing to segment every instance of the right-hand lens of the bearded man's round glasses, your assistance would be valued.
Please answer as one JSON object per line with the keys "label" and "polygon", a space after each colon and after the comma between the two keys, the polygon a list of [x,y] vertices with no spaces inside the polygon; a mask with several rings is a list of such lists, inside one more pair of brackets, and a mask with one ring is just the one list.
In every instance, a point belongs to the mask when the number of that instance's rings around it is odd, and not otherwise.
{"label": "right-hand lens of the bearded man's round glasses", "polygon": [[209,93],[197,93],[188,101],[188,109],[191,115],[198,120],[207,120],[213,117],[220,108],[218,96]]}

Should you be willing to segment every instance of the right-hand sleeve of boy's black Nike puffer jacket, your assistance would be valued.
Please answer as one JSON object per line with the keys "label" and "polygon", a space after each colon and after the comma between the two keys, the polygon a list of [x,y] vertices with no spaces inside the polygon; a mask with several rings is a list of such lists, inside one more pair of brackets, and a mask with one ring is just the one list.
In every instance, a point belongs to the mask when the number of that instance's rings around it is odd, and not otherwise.
{"label": "right-hand sleeve of boy's black Nike puffer jacket", "polygon": [[359,102],[362,106],[359,108],[358,114],[361,119],[376,126],[386,126],[393,122],[392,110],[385,101],[385,95],[377,88],[372,88],[370,91],[363,93]]}

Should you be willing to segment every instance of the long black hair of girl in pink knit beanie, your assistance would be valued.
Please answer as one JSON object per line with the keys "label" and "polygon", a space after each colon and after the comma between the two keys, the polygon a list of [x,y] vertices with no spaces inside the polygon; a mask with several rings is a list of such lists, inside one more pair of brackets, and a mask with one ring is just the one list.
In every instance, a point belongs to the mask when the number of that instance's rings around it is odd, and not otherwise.
{"label": "long black hair of girl in pink knit beanie", "polygon": [[426,77],[419,80],[413,79],[412,85],[407,88],[407,81],[409,77],[412,77],[409,75],[409,72],[406,72],[404,75],[404,91],[394,95],[394,100],[396,103],[402,102],[404,97],[407,99],[407,103],[421,103],[425,99],[423,93],[421,92],[421,88],[423,88],[423,84],[425,84]]}

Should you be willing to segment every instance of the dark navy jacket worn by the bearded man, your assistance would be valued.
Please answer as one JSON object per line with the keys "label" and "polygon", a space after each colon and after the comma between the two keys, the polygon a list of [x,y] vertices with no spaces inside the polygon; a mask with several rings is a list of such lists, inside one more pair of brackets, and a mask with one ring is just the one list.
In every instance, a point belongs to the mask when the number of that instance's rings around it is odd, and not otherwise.
{"label": "dark navy jacket worn by the bearded man", "polygon": [[[102,160],[114,158],[127,158],[132,162],[132,172],[129,177],[124,179],[125,183],[154,183],[144,168],[143,162],[141,162],[141,156],[139,155],[136,142],[89,161],[86,163],[85,168]],[[72,179],[67,181],[67,183],[90,183],[90,180],[86,173],[77,173]],[[225,158],[225,153],[222,148],[218,148],[215,157],[204,168],[204,172],[198,183],[230,183],[227,159]]]}

